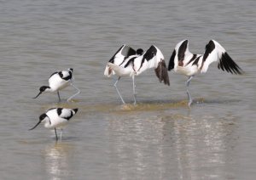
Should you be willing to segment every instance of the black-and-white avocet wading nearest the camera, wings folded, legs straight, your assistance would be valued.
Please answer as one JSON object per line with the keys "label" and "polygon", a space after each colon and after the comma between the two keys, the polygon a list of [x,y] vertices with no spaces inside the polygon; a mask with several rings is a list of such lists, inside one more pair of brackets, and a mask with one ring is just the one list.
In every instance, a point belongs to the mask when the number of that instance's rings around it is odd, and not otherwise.
{"label": "black-and-white avocet wading nearest the camera, wings folded, legs straight", "polygon": [[63,127],[67,125],[67,122],[78,112],[79,109],[64,109],[64,108],[53,108],[47,110],[46,113],[39,116],[39,121],[36,126],[29,130],[33,130],[38,127],[41,122],[44,122],[44,127],[49,129],[55,129],[56,141],[58,141],[58,136],[56,128],[61,129],[61,138]]}

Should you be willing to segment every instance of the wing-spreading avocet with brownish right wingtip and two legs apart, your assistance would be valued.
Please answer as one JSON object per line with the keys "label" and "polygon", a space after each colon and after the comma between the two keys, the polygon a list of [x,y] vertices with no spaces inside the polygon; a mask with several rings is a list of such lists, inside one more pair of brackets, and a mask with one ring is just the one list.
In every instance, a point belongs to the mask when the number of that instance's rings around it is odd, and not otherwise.
{"label": "wing-spreading avocet with brownish right wingtip and two legs apart", "polygon": [[160,52],[159,48],[152,45],[144,53],[141,48],[135,51],[133,48],[123,45],[108,61],[104,75],[110,77],[116,74],[119,76],[113,86],[119,94],[123,104],[125,104],[125,101],[119,93],[117,83],[122,76],[130,76],[132,78],[134,104],[136,104],[135,76],[139,76],[144,70],[151,68],[154,68],[155,74],[160,82],[170,85],[164,55]]}

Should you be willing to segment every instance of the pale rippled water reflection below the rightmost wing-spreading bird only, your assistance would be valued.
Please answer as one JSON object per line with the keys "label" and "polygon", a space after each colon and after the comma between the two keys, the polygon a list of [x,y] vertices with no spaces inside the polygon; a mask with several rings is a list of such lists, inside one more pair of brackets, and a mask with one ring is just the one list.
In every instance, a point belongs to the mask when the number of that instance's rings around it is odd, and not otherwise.
{"label": "pale rippled water reflection below the rightmost wing-spreading bird only", "polygon": [[233,120],[232,116],[219,118],[216,115],[163,118],[166,122],[164,133],[172,136],[172,147],[167,152],[172,155],[172,163],[177,165],[177,177],[225,178],[225,166],[234,163],[229,159],[236,153],[229,151],[236,144]]}

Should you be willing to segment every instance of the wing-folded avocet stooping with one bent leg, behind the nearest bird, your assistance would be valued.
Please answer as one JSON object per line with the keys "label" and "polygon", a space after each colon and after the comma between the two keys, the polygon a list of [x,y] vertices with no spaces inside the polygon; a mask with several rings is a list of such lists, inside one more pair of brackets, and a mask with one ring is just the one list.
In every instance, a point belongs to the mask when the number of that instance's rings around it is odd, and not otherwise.
{"label": "wing-folded avocet stooping with one bent leg, behind the nearest bird", "polygon": [[74,98],[75,96],[77,96],[80,93],[79,88],[75,87],[73,85],[73,68],[69,68],[68,70],[54,72],[51,76],[49,76],[49,86],[40,87],[39,88],[40,92],[34,98],[38,98],[38,96],[41,93],[57,92],[58,97],[59,97],[59,102],[61,102],[60,91],[67,86],[72,86],[78,91],[78,93],[75,93],[70,98],[67,98],[67,101],[70,101],[72,98]]}

